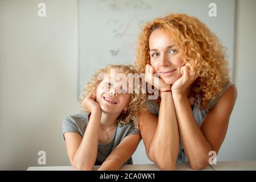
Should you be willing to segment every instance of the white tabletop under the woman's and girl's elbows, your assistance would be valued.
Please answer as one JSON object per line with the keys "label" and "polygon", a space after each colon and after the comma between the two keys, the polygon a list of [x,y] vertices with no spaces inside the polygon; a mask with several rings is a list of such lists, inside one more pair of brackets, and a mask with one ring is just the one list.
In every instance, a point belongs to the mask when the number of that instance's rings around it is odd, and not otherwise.
{"label": "white tabletop under the woman's and girl's elbows", "polygon": [[[100,166],[94,166],[93,170],[97,170]],[[27,171],[73,171],[72,166],[40,166],[28,167]],[[193,171],[188,163],[177,164],[177,171]],[[233,161],[233,162],[217,162],[204,168],[202,171],[221,171],[221,170],[253,170],[256,171],[256,160],[249,161]],[[123,165],[120,171],[159,171],[155,164],[133,164]]]}

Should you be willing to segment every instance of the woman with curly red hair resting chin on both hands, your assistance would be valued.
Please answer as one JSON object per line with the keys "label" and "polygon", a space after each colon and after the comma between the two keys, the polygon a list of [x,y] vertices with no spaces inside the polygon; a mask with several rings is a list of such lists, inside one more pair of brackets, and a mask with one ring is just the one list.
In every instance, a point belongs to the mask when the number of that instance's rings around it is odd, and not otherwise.
{"label": "woman with curly red hair resting chin on both hands", "polygon": [[135,64],[160,96],[138,117],[148,158],[160,169],[183,162],[205,168],[209,152],[220,150],[237,97],[225,48],[197,18],[170,14],[144,25]]}

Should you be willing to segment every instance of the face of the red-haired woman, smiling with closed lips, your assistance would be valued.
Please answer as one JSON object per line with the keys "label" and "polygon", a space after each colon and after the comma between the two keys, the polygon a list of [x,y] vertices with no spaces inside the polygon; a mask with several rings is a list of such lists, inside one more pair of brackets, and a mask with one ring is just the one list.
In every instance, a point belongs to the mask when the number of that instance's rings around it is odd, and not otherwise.
{"label": "face of the red-haired woman, smiling with closed lips", "polygon": [[154,30],[149,39],[150,63],[166,84],[174,84],[181,77],[183,66],[179,47],[172,37],[162,29]]}

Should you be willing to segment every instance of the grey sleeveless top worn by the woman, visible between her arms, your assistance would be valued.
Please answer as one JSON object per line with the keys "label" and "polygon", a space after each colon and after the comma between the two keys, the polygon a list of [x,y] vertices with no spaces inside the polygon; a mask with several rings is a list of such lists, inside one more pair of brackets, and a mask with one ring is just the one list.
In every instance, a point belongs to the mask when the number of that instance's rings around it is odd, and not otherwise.
{"label": "grey sleeveless top worn by the woman, visible between her arms", "polygon": [[[234,85],[232,82],[229,82],[228,84],[226,84],[220,94],[218,94],[218,96],[216,97],[215,100],[213,100],[208,109],[205,110],[200,110],[200,98],[199,98],[199,102],[196,102],[196,104],[192,107],[193,110],[193,116],[196,119],[197,125],[201,125],[201,122],[203,121],[203,118],[205,117],[205,115],[214,107],[214,105],[216,104],[216,102],[218,101],[218,99],[222,96],[222,94],[230,87]],[[159,115],[159,105],[156,104],[156,102],[154,100],[147,100],[146,101],[146,105],[147,105],[147,109],[154,115],[158,116]],[[182,144],[181,144],[181,140],[179,143],[179,154],[177,157],[177,163],[187,163],[188,162],[188,158],[185,155],[185,152],[183,150]]]}

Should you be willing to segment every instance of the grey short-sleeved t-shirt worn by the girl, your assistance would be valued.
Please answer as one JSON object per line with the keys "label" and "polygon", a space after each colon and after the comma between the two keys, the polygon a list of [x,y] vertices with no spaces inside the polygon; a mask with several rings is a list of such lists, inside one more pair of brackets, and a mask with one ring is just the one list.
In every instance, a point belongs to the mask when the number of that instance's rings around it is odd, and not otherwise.
{"label": "grey short-sleeved t-shirt worn by the girl", "polygon": [[[63,120],[63,137],[64,133],[75,132],[84,136],[86,126],[88,125],[88,115],[86,114],[74,114],[69,115]],[[98,154],[95,165],[101,165],[109,154],[118,146],[118,144],[128,135],[140,134],[139,131],[135,131],[133,127],[133,121],[124,126],[117,126],[114,137],[109,143],[98,143]],[[64,138],[65,140],[65,138]],[[133,159],[130,158],[125,164],[133,164]]]}

